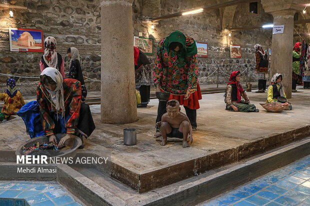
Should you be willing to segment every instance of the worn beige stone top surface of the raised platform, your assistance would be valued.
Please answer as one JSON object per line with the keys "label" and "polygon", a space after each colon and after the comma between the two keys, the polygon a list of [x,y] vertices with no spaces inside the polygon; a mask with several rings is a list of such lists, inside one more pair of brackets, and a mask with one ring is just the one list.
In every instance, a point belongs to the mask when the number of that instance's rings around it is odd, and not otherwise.
{"label": "worn beige stone top surface of the raised platform", "polygon": [[[107,148],[111,151],[112,162],[141,175],[229,151],[240,145],[246,147],[249,143],[259,140],[263,142],[267,137],[309,125],[310,90],[301,88],[298,90],[300,92],[293,93],[290,100],[293,110],[281,113],[266,112],[259,105],[264,103],[265,93],[254,93],[254,91],[248,93],[251,103],[260,110],[258,113],[224,110],[223,93],[203,95],[202,100],[199,101],[200,109],[197,110],[197,131],[193,132],[194,141],[189,148],[182,148],[180,142],[168,142],[166,146],[160,146],[159,142],[155,141],[153,133],[157,100],[150,101],[149,105],[152,106],[150,108],[138,109],[137,122],[125,125],[101,124],[100,106],[92,105],[91,111],[96,129],[85,141],[83,150]],[[183,108],[181,110],[184,112]],[[128,127],[137,129],[137,144],[134,146],[123,145],[123,129]],[[0,123],[1,149],[15,150],[28,139],[24,124],[19,117]]]}

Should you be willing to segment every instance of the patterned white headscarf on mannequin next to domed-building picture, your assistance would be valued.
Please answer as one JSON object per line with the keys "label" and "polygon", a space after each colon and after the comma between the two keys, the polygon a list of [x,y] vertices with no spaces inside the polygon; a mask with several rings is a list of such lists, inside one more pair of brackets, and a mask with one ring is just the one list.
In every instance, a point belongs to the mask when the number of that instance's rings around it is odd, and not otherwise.
{"label": "patterned white headscarf on mannequin next to domed-building picture", "polygon": [[[48,67],[57,68],[58,63],[58,57],[56,49],[56,39],[52,36],[47,36],[44,39],[44,59]],[[50,54],[50,60],[48,60],[46,57]],[[58,68],[60,69],[60,68]]]}

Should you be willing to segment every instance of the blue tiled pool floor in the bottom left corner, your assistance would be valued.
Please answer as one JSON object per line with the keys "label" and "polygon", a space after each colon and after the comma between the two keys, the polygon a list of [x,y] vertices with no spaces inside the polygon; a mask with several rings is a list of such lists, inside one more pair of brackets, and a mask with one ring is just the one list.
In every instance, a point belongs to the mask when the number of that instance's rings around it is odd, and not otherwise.
{"label": "blue tiled pool floor in the bottom left corner", "polygon": [[0,206],[81,206],[56,182],[0,181]]}

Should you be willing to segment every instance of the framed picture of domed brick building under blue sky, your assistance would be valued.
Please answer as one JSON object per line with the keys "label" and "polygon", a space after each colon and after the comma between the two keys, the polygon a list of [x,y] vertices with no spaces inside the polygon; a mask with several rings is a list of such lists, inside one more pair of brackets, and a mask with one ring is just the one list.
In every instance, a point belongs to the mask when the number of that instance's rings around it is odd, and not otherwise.
{"label": "framed picture of domed brick building under blue sky", "polygon": [[43,52],[43,31],[25,28],[9,28],[10,51]]}

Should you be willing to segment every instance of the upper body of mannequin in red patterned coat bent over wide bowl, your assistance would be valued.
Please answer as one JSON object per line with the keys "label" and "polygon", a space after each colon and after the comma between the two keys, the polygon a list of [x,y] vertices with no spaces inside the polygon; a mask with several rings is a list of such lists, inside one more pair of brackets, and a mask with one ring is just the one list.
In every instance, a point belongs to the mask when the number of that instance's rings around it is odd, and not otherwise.
{"label": "upper body of mannequin in red patterned coat bent over wide bowl", "polygon": [[[59,141],[59,147],[74,136],[87,138],[87,135],[78,129],[78,124],[83,124],[81,123],[83,120],[79,120],[80,99],[81,84],[79,81],[70,78],[62,79],[60,72],[51,67],[42,71],[40,83],[36,89],[36,100],[39,104],[43,131],[49,137],[49,142],[57,143],[54,135],[57,133],[66,133]],[[87,118],[83,119],[88,122],[84,122],[84,125],[89,125]],[[93,121],[90,122],[93,124]]]}

